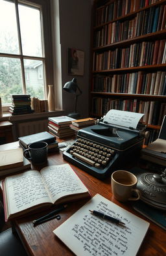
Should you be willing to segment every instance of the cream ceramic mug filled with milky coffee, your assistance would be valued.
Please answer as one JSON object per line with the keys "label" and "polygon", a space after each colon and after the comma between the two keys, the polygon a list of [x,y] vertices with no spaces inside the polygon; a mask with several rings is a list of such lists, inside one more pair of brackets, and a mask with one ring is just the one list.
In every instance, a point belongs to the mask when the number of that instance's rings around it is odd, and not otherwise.
{"label": "cream ceramic mug filled with milky coffee", "polygon": [[[112,173],[113,197],[120,202],[139,199],[139,190],[134,188],[137,184],[137,177],[129,171],[114,171]],[[136,195],[136,197],[134,195]]]}

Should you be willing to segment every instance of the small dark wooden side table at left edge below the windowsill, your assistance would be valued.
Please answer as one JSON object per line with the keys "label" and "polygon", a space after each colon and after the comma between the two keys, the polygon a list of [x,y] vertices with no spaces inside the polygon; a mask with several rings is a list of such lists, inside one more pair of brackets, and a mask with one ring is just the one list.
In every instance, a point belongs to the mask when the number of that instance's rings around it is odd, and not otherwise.
{"label": "small dark wooden side table at left edge below the windowsill", "polygon": [[13,124],[9,121],[0,122],[0,145],[14,141],[12,126]]}

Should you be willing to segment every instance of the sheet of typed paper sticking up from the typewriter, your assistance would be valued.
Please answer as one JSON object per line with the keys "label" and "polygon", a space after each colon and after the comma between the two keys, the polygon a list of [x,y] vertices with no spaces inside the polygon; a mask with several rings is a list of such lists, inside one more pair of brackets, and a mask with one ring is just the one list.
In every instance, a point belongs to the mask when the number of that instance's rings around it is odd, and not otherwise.
{"label": "sheet of typed paper sticking up from the typewriter", "polygon": [[144,114],[141,113],[110,109],[110,111],[106,113],[103,122],[136,129],[137,124],[143,115]]}

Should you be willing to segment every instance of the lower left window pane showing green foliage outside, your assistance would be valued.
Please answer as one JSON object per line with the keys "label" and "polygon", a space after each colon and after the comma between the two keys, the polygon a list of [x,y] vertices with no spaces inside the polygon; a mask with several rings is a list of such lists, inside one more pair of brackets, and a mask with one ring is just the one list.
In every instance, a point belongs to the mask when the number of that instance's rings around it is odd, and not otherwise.
{"label": "lower left window pane showing green foliage outside", "polygon": [[22,78],[19,59],[0,57],[0,94],[2,103],[11,103],[10,94],[21,94]]}

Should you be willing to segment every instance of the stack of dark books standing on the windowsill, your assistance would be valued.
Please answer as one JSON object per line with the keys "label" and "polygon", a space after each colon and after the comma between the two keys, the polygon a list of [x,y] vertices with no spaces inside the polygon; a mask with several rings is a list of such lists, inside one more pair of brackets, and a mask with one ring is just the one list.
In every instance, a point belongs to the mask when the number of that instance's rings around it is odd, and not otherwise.
{"label": "stack of dark books standing on the windowsill", "polygon": [[12,106],[9,108],[12,115],[22,115],[33,113],[31,109],[30,95],[28,94],[12,94]]}

